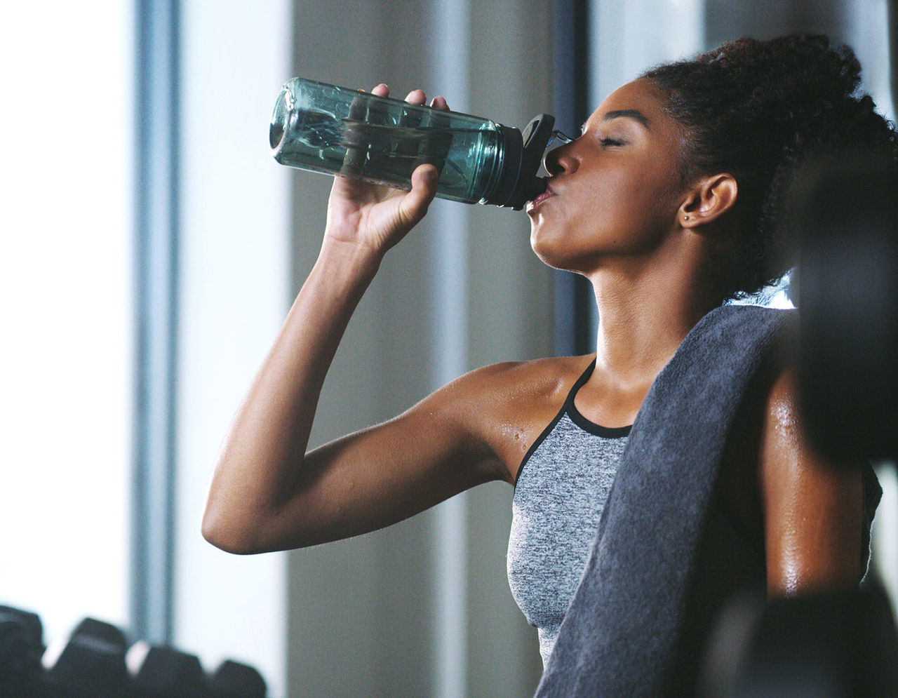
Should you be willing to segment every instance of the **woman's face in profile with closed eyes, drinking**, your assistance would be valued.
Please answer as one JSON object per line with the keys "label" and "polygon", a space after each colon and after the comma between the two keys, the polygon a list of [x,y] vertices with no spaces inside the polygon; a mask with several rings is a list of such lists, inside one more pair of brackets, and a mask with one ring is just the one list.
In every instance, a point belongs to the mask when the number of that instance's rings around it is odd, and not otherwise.
{"label": "woman's face in profile with closed eyes, drinking", "polygon": [[682,136],[649,81],[610,94],[582,136],[546,156],[549,189],[527,208],[533,251],[552,267],[589,273],[610,256],[656,250],[682,203]]}

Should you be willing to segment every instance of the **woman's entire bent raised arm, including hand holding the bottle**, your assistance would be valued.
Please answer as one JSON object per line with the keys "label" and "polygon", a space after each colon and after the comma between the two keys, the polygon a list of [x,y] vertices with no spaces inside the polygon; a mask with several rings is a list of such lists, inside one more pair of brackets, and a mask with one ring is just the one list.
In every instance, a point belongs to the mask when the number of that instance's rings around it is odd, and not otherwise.
{"label": "woman's entire bent raised arm, including hand holding the bottle", "polygon": [[[385,95],[385,85],[374,93]],[[424,93],[409,94],[423,103]],[[445,108],[440,98],[437,106]],[[335,178],[321,253],[225,440],[203,535],[229,552],[322,543],[385,526],[502,477],[471,438],[471,386],[306,455],[321,385],[383,254],[427,212],[436,169],[408,192]]]}

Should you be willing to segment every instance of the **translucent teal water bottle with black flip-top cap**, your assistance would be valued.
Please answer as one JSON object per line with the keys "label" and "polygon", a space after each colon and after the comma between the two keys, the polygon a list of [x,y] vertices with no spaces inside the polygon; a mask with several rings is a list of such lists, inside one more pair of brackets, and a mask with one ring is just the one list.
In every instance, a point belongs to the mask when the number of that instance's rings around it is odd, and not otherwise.
{"label": "translucent teal water bottle with black flip-top cap", "polygon": [[278,163],[411,189],[431,163],[436,196],[520,209],[541,194],[537,176],[555,119],[540,114],[524,133],[489,119],[295,77],[277,96],[269,144]]}

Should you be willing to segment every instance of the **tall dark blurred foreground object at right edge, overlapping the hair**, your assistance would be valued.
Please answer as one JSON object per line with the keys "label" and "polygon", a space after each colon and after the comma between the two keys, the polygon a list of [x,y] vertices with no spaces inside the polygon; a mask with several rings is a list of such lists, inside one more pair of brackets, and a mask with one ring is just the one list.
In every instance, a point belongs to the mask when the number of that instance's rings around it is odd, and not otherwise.
{"label": "tall dark blurred foreground object at right edge, overlapping the hair", "polygon": [[898,165],[852,151],[802,170],[797,367],[808,437],[836,462],[898,457]]}

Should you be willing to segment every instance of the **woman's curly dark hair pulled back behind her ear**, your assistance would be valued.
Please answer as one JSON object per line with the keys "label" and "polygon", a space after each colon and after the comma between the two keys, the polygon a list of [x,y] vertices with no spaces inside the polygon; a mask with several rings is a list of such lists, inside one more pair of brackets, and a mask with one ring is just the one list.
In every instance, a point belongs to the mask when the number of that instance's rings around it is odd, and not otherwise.
{"label": "woman's curly dark hair pulled back behind her ear", "polygon": [[869,95],[858,94],[854,51],[825,36],[739,39],[642,76],[685,127],[683,186],[717,172],[738,183],[735,254],[709,269],[721,300],[751,295],[791,266],[788,231],[777,224],[798,165],[831,149],[898,153],[894,124],[876,113]]}

